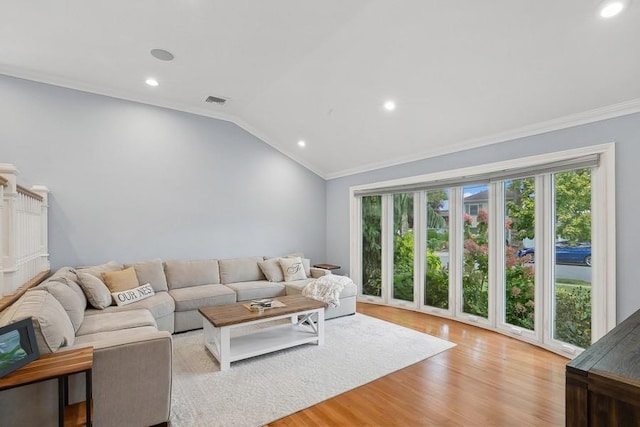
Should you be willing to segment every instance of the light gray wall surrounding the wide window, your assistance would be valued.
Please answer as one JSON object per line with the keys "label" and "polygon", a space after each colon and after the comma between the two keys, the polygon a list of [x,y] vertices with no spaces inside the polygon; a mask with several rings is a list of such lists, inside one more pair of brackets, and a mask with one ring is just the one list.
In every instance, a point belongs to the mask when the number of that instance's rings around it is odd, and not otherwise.
{"label": "light gray wall surrounding the wide window", "polygon": [[617,317],[640,308],[640,114],[378,169],[327,182],[327,261],[349,271],[349,187],[553,151],[616,142]]}

